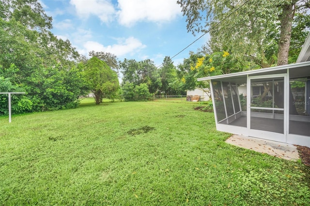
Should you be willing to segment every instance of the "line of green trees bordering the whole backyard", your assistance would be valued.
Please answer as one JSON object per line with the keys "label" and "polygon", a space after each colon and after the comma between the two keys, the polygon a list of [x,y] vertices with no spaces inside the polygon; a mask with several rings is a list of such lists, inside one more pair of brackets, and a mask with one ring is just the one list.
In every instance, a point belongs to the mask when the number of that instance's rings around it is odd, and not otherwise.
{"label": "line of green trees bordering the whole backyard", "polygon": [[[103,51],[90,51],[87,58],[50,31],[52,17],[38,0],[0,2],[0,92],[26,92],[12,96],[14,114],[75,108],[89,93],[96,104],[103,98],[147,101],[185,94],[207,87],[199,77],[294,62],[310,28],[307,0],[248,0],[237,11],[239,1],[178,0],[188,31],[217,27],[178,66],[167,56],[156,67],[150,59],[119,61]],[[0,95],[0,115],[7,114],[7,101]]]}

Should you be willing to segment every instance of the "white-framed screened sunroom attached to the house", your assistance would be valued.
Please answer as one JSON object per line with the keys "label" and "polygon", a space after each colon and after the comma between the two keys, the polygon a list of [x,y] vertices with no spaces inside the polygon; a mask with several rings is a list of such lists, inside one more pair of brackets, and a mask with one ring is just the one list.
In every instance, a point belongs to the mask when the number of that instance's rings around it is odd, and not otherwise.
{"label": "white-framed screened sunroom attached to the house", "polygon": [[310,147],[310,35],[297,63],[209,81],[218,131]]}

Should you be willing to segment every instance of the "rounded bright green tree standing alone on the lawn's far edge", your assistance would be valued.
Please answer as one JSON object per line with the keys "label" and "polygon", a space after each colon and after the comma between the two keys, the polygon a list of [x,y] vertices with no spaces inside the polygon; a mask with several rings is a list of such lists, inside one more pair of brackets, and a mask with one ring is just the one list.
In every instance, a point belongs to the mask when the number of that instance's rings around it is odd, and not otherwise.
{"label": "rounded bright green tree standing alone on the lawn's far edge", "polygon": [[85,78],[95,97],[96,104],[100,104],[107,95],[112,95],[119,88],[119,81],[106,62],[96,57],[89,59],[85,65]]}

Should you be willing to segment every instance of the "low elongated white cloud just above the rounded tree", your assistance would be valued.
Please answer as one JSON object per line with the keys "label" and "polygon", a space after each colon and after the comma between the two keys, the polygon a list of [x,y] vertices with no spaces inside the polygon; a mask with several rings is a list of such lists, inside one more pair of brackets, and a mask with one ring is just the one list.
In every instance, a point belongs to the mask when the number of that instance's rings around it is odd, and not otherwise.
{"label": "low elongated white cloud just above the rounded tree", "polygon": [[124,55],[133,55],[145,48],[146,45],[142,44],[138,39],[129,37],[127,39],[118,39],[117,44],[104,46],[98,42],[87,41],[84,45],[87,51],[104,51],[115,54],[117,57]]}

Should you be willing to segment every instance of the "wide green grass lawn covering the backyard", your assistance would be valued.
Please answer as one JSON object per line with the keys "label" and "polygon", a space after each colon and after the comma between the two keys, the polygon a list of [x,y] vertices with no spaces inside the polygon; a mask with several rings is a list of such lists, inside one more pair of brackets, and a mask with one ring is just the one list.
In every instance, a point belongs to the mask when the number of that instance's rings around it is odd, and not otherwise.
{"label": "wide green grass lawn covering the backyard", "polygon": [[0,118],[0,205],[309,205],[310,171],[226,144],[195,105],[85,99]]}

